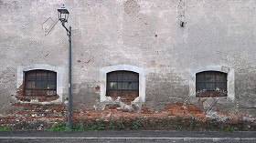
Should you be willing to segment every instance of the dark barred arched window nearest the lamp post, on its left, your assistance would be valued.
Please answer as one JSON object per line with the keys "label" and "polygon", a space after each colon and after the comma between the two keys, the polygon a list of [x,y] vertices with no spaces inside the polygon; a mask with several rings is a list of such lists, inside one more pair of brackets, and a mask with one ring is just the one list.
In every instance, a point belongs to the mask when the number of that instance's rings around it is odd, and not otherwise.
{"label": "dark barred arched window nearest the lamp post, on its left", "polygon": [[30,70],[25,72],[25,96],[57,96],[57,73],[48,70]]}

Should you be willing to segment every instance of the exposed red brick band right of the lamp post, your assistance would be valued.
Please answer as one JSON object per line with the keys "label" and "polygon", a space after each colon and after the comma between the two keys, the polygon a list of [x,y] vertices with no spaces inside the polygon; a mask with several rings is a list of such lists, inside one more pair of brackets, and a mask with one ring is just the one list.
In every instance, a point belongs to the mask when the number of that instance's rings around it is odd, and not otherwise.
{"label": "exposed red brick band right of the lamp post", "polygon": [[107,105],[104,110],[93,110],[87,109],[83,111],[73,111],[73,120],[93,120],[93,119],[102,119],[102,120],[112,120],[120,119],[124,120],[134,120],[136,118],[173,118],[173,117],[182,117],[188,118],[188,111],[198,115],[199,117],[206,117],[200,109],[194,105],[189,105],[187,111],[184,109],[183,104],[167,104],[163,110],[154,111],[148,107],[143,107],[140,111],[128,111],[123,109],[118,109],[119,105]]}

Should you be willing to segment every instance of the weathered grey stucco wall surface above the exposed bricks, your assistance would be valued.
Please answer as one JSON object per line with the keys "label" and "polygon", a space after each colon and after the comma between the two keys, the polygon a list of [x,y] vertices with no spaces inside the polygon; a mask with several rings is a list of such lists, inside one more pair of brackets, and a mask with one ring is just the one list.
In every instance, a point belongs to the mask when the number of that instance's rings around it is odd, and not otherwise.
{"label": "weathered grey stucco wall surface above the exposed bricks", "polygon": [[[63,1],[72,26],[73,109],[102,109],[101,73],[106,66],[144,69],[150,109],[187,102],[190,70],[225,66],[234,70],[230,104],[255,117],[255,1],[73,0]],[[45,36],[62,1],[0,1],[0,114],[15,114],[18,66],[63,67],[67,103],[68,39],[60,24]],[[181,22],[184,25],[181,26]],[[100,87],[100,89],[99,89]],[[197,99],[196,99],[197,100]],[[221,100],[221,99],[220,99]],[[194,99],[195,101],[195,99]],[[48,102],[51,103],[51,102]],[[54,102],[55,103],[55,102]]]}

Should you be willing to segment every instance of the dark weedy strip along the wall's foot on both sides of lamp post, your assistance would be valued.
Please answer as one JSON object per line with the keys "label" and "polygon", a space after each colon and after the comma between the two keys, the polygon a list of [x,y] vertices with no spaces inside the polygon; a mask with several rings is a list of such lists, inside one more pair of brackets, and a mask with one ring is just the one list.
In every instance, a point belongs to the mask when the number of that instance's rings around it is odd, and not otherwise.
{"label": "dark weedy strip along the wall's foot on both sides of lamp post", "polygon": [[[14,130],[48,130],[48,131],[68,131],[67,119],[48,123],[46,121],[25,121],[17,122],[12,125],[5,125]],[[0,127],[0,128],[3,128]],[[207,119],[204,121],[195,118],[134,118],[125,120],[124,118],[102,120],[101,118],[76,120],[72,123],[72,130],[74,131],[88,131],[88,130],[188,130],[188,131],[256,131],[256,124],[248,121],[237,121],[236,124],[221,122],[215,119]],[[0,129],[1,130],[1,129]]]}

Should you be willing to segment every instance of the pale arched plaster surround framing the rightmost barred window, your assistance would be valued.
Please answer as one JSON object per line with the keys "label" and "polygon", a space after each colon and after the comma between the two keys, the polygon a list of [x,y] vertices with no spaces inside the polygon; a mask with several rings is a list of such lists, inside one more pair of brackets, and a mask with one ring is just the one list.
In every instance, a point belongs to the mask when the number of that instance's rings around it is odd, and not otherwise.
{"label": "pale arched plaster surround framing the rightmost barred window", "polygon": [[189,71],[189,95],[196,97],[196,74],[203,71],[219,71],[228,74],[227,88],[228,97],[219,97],[219,103],[234,102],[235,99],[235,75],[234,69],[228,66],[197,66]]}

